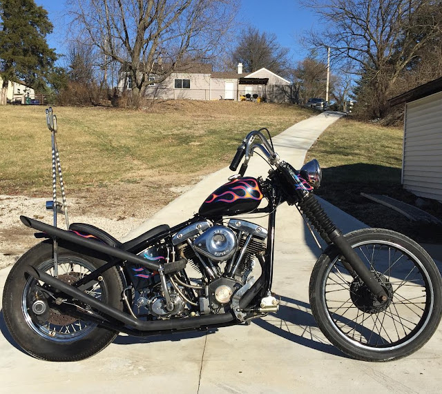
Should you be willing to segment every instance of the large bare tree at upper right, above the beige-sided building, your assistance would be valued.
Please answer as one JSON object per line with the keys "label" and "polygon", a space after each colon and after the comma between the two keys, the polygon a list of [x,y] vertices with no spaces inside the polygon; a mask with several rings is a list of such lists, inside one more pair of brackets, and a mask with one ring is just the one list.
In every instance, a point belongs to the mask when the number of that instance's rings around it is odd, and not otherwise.
{"label": "large bare tree at upper right, above the beige-sided building", "polygon": [[[353,72],[363,72],[372,90],[372,115],[382,117],[389,92],[427,41],[441,30],[440,19],[425,18],[440,0],[307,0],[325,25],[309,36],[315,47],[330,47]],[[413,31],[421,32],[419,39]]]}

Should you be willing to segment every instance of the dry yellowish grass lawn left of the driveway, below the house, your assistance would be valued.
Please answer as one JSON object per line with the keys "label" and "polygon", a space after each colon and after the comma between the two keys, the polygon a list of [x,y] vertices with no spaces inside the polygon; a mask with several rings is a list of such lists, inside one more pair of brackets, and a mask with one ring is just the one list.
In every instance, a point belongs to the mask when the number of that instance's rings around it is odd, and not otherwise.
{"label": "dry yellowish grass lawn left of the driveway, below the house", "polygon": [[[153,189],[173,179],[186,184],[227,166],[250,130],[265,126],[276,135],[311,116],[297,106],[233,101],[166,101],[148,112],[55,107],[54,113],[68,190],[149,180]],[[47,195],[52,164],[44,107],[3,106],[0,139],[0,194]]]}

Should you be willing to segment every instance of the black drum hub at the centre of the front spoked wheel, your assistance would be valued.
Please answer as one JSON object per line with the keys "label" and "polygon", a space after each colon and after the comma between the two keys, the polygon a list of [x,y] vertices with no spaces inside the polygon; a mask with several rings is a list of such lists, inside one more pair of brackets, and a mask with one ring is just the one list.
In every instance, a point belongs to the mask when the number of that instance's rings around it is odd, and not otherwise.
{"label": "black drum hub at the centre of the front spoked wheel", "polygon": [[361,279],[356,278],[350,285],[350,297],[353,304],[364,313],[380,313],[390,306],[393,299],[393,286],[388,282],[388,279],[381,273],[375,273],[376,279],[381,283],[381,286],[387,293],[387,301],[379,302],[369,288],[361,282]]}

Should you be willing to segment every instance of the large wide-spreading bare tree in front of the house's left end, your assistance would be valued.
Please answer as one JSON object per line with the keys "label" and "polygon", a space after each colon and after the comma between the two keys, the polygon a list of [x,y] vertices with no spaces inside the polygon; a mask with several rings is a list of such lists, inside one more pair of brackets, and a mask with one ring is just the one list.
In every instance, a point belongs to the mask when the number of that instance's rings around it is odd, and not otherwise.
{"label": "large wide-spreading bare tree in front of the house's left end", "polygon": [[183,59],[213,52],[233,19],[231,0],[70,0],[70,13],[79,34],[131,75],[134,97],[148,75],[164,80]]}

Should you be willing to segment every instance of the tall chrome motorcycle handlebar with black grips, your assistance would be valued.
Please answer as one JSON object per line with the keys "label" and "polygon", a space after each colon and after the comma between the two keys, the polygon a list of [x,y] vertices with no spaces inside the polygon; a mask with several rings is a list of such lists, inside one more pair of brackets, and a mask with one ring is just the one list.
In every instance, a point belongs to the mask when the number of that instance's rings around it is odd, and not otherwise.
{"label": "tall chrome motorcycle handlebar with black grips", "polygon": [[[258,144],[257,142],[255,142],[256,137],[260,139],[260,142],[262,142],[262,144]],[[273,147],[267,141],[266,137],[262,134],[260,130],[253,130],[249,132],[249,134],[243,139],[242,144],[238,146],[236,155],[235,157],[233,157],[229,168],[232,171],[236,171],[238,165],[240,164],[240,161],[242,160],[242,157],[244,157],[245,155],[244,163],[242,163],[239,173],[241,176],[244,176],[244,173],[247,170],[247,166],[249,165],[249,160],[253,156],[253,151],[256,148],[259,148],[262,151],[269,164],[278,165],[279,157],[273,150]]]}

